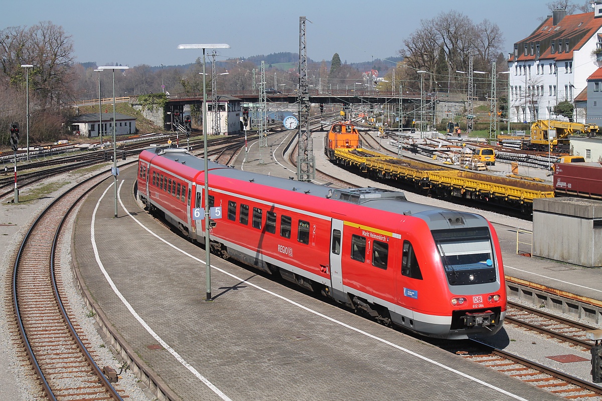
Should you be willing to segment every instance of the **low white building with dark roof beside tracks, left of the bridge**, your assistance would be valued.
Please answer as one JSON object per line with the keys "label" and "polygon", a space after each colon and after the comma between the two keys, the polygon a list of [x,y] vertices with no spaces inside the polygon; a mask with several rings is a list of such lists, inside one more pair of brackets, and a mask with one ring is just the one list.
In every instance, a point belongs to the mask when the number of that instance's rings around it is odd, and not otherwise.
{"label": "low white building with dark roof beside tracks, left of the bridge", "polygon": [[[74,135],[87,136],[93,138],[102,135],[113,135],[113,113],[88,113],[81,114],[69,120],[69,127]],[[136,132],[136,118],[131,115],[115,113],[115,125],[117,135],[127,135]]]}

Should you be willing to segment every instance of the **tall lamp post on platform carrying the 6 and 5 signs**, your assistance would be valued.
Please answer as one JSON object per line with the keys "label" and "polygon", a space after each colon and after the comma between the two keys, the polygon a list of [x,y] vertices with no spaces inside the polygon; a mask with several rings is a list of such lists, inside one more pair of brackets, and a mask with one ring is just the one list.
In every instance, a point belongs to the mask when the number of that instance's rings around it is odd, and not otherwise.
{"label": "tall lamp post on platform carrying the 6 and 5 signs", "polygon": [[[205,181],[205,263],[206,263],[206,298],[205,301],[211,301],[211,247],[209,245],[209,174],[207,159],[207,94],[205,88],[205,49],[229,49],[229,44],[178,44],[178,49],[203,49],[203,157],[205,158],[205,171],[203,180]],[[198,206],[198,205],[196,205]]]}

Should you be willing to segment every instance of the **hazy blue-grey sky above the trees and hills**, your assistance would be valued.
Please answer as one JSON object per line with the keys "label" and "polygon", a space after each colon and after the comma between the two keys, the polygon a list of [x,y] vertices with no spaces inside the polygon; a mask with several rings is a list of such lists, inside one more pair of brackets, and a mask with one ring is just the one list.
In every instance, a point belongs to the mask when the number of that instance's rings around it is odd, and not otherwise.
{"label": "hazy blue-grey sky above the trees and hills", "polygon": [[[159,66],[193,62],[202,54],[181,43],[228,43],[223,57],[299,51],[299,17],[305,16],[308,57],[349,63],[397,55],[421,19],[450,10],[473,22],[489,19],[506,48],[526,37],[547,15],[550,0],[22,0],[7,1],[0,29],[50,20],[73,37],[77,61]],[[581,3],[581,1],[579,1]]]}

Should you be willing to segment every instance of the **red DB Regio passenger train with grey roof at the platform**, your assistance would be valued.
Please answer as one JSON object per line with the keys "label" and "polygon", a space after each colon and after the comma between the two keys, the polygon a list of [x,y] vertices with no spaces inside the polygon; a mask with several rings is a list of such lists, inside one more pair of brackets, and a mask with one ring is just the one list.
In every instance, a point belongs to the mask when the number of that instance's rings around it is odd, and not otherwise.
{"label": "red DB Regio passenger train with grey roof at the platform", "polygon": [[[204,161],[140,154],[138,195],[205,242]],[[425,206],[403,192],[332,189],[209,162],[209,206],[223,218],[211,249],[321,292],[384,324],[439,338],[494,334],[506,314],[497,234],[485,218]]]}

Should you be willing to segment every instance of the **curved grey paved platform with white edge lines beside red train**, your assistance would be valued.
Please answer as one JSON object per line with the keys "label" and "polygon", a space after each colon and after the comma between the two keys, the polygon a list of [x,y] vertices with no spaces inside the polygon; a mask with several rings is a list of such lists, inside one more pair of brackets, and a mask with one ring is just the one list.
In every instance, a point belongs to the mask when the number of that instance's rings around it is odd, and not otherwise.
{"label": "curved grey paved platform with white edge lines beside red train", "polygon": [[202,249],[140,209],[134,168],[120,178],[130,214],[113,218],[113,191],[99,187],[78,215],[75,263],[182,400],[557,399],[217,257],[204,301]]}

